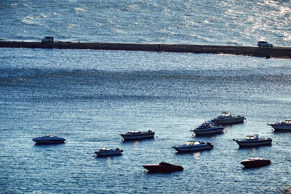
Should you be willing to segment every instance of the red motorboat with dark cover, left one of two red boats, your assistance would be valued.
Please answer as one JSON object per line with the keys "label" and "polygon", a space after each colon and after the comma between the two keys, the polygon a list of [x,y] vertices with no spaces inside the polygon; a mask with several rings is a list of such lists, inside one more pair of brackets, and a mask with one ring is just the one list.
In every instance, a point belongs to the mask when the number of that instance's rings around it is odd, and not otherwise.
{"label": "red motorboat with dark cover, left one of two red boats", "polygon": [[184,168],[177,164],[170,164],[167,162],[161,162],[159,164],[146,164],[143,165],[149,172],[173,172],[183,170]]}

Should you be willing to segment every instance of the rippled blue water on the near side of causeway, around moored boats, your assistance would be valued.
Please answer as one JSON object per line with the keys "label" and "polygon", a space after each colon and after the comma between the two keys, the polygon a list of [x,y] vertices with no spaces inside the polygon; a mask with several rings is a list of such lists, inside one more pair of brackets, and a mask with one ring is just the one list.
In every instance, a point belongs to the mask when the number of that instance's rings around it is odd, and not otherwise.
{"label": "rippled blue water on the near side of causeway, around moored boats", "polygon": [[[291,185],[291,133],[266,123],[291,118],[290,60],[102,50],[0,49],[0,193],[278,194]],[[195,137],[222,110],[247,122]],[[123,142],[129,129],[155,139]],[[35,145],[46,133],[67,139]],[[239,148],[258,133],[272,146]],[[176,154],[187,140],[210,151]],[[94,157],[102,146],[123,155]],[[243,169],[248,157],[269,166]],[[184,171],[146,173],[170,162]]]}

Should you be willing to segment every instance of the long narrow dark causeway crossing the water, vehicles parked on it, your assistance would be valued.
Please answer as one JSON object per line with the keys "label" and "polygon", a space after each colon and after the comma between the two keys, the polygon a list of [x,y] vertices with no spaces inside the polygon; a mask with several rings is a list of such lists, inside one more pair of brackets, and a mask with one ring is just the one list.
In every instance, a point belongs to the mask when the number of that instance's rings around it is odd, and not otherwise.
{"label": "long narrow dark causeway crossing the water, vehicles parked on it", "polygon": [[30,48],[30,49],[95,49],[95,50],[133,50],[155,52],[187,52],[232,54],[264,58],[291,59],[290,47],[243,47],[216,45],[170,45],[170,44],[127,44],[127,43],[82,43],[82,42],[24,42],[0,41],[0,48]]}

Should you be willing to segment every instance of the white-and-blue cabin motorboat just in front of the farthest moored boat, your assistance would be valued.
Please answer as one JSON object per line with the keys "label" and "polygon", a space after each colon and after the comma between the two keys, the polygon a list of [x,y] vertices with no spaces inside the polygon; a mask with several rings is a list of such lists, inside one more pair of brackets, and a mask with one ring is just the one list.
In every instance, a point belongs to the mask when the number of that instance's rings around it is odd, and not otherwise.
{"label": "white-and-blue cabin motorboat just in front of the farthest moored boat", "polygon": [[221,133],[223,129],[223,127],[221,127],[220,125],[216,125],[213,121],[206,121],[205,123],[202,123],[199,127],[190,131],[193,131],[196,135],[207,135],[219,132]]}

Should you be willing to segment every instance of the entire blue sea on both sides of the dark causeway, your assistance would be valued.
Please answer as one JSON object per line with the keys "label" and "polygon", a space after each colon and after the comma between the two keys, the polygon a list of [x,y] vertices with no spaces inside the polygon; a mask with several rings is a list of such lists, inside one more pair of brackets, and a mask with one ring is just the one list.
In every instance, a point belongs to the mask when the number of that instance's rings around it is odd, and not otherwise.
{"label": "entire blue sea on both sides of the dark causeway", "polygon": [[[2,0],[0,40],[290,47],[289,0]],[[284,194],[291,190],[290,60],[106,50],[0,48],[0,193]],[[189,131],[221,111],[247,122],[223,134]],[[129,129],[152,140],[123,142]],[[46,133],[67,139],[38,146]],[[239,148],[258,133],[272,146]],[[187,140],[210,151],[177,154]],[[123,155],[94,157],[102,146]],[[249,157],[269,166],[243,169]],[[144,164],[184,171],[153,174]]]}

